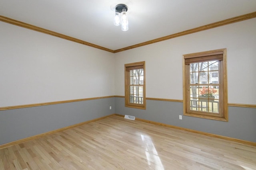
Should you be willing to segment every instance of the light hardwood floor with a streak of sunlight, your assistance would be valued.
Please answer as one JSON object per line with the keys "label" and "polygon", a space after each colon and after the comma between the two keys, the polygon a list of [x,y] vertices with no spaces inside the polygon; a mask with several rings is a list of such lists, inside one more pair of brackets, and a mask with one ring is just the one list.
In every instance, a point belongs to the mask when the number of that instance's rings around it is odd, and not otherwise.
{"label": "light hardwood floor with a streak of sunlight", "polygon": [[111,116],[0,150],[0,170],[254,170],[256,147]]}

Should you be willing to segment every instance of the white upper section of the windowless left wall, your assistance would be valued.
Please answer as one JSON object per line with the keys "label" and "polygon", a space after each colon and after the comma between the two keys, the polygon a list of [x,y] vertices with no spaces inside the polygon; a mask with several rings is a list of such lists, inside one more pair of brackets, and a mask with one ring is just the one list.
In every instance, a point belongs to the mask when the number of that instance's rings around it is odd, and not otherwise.
{"label": "white upper section of the windowless left wall", "polygon": [[0,22],[0,107],[112,95],[112,53]]}

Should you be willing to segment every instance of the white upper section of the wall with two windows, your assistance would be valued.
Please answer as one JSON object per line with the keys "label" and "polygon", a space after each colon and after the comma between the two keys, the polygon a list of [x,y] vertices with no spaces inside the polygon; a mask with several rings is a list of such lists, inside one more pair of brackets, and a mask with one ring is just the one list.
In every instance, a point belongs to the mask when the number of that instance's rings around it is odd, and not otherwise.
{"label": "white upper section of the wall with two windows", "polygon": [[256,18],[115,54],[115,95],[124,64],[146,61],[146,97],[182,100],[182,55],[227,48],[228,103],[256,104]]}

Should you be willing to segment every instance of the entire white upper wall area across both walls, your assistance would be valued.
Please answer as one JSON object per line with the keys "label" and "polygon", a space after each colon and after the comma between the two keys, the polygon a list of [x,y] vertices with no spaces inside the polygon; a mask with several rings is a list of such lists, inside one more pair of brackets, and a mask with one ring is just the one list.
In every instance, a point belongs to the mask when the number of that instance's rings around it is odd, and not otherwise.
{"label": "entire white upper wall area across both walls", "polygon": [[109,53],[0,22],[0,107],[124,96],[124,64],[146,61],[146,97],[182,100],[182,55],[227,48],[228,102],[256,104],[256,18]]}

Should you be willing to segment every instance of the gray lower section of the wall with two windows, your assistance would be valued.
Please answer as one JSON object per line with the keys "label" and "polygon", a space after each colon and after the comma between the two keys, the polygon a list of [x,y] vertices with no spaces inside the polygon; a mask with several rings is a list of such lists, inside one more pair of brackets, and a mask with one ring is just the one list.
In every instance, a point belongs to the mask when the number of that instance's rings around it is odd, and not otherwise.
{"label": "gray lower section of the wall with two windows", "polygon": [[[115,98],[115,111],[141,119],[196,131],[256,142],[256,109],[228,107],[228,122],[183,115],[182,102],[146,100],[146,110],[124,107],[124,98]],[[179,120],[182,115],[182,120]]]}

